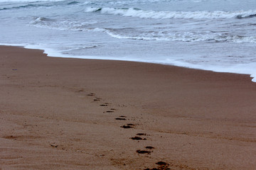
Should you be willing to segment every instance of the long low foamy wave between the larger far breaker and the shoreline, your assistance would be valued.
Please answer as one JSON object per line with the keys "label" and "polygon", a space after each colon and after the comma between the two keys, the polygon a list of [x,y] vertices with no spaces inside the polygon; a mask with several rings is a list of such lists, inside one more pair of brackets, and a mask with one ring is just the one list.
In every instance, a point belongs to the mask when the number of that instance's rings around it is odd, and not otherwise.
{"label": "long low foamy wave between the larger far breaker and the shoreline", "polygon": [[218,33],[214,31],[174,33],[169,30],[146,31],[135,28],[95,28],[93,25],[96,23],[97,21],[56,21],[51,18],[35,17],[33,18],[33,21],[31,21],[30,26],[55,30],[102,32],[110,35],[112,38],[117,39],[256,43],[255,36],[231,35],[230,33]]}

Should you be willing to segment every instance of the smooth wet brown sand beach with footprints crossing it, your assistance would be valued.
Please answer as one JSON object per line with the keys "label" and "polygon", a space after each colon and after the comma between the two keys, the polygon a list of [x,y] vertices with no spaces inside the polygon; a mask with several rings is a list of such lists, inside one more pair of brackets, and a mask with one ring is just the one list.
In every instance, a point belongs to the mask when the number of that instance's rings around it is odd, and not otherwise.
{"label": "smooth wet brown sand beach with footprints crossing it", "polygon": [[0,47],[0,169],[256,169],[249,75]]}

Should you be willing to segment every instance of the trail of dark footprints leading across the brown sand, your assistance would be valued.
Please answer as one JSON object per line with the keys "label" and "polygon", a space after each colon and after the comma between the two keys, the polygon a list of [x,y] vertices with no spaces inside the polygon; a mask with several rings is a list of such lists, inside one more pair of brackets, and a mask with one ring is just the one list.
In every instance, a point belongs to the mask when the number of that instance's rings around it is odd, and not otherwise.
{"label": "trail of dark footprints leading across the brown sand", "polygon": [[[80,91],[83,91],[83,89],[81,89]],[[95,101],[95,102],[102,100],[102,98],[96,97],[96,94],[94,94],[94,93],[87,94],[87,96],[93,96],[94,97],[93,101]],[[101,103],[100,106],[108,108],[110,106],[110,103]],[[117,109],[110,108],[110,110],[107,110],[103,113],[114,113],[114,111],[117,111]],[[125,121],[125,120],[127,120],[127,116],[119,115],[117,118],[115,118],[115,120]],[[132,120],[135,120],[135,119],[133,118]],[[120,126],[120,128],[129,129],[129,128],[135,128],[135,126],[136,125],[134,125],[132,123],[127,123],[125,125]],[[143,140],[146,140],[145,136],[150,136],[150,135],[146,135],[146,133],[137,133],[137,135],[135,137],[130,137],[129,139],[143,141]],[[155,148],[151,147],[151,146],[146,146],[146,147],[144,147],[144,149],[137,149],[136,152],[138,154],[151,154],[151,152],[153,152],[153,149],[155,149]],[[167,164],[166,162],[156,162],[155,164],[157,166],[156,168],[151,168],[151,169],[146,168],[144,170],[167,170],[167,169],[170,169],[169,164]]]}

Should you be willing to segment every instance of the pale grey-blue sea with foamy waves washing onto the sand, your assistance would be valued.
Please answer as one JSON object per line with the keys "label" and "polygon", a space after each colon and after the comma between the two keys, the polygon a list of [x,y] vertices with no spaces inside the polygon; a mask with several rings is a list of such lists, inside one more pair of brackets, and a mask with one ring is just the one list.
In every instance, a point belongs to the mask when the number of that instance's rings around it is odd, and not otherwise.
{"label": "pale grey-blue sea with foamy waves washing onto the sand", "polygon": [[256,1],[0,0],[0,44],[256,77]]}

